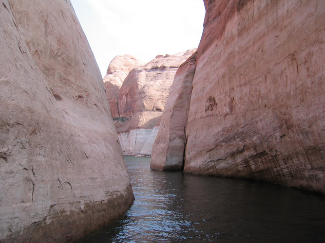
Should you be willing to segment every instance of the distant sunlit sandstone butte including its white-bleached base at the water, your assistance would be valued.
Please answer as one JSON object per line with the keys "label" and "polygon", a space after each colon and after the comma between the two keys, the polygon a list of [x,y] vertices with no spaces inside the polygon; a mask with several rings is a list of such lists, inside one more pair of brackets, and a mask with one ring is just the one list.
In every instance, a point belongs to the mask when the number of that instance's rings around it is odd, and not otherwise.
{"label": "distant sunlit sandstone butte including its white-bleached base at the water", "polygon": [[175,73],[195,51],[196,49],[175,55],[158,55],[128,74],[118,97],[120,118],[115,119],[125,155],[151,155]]}

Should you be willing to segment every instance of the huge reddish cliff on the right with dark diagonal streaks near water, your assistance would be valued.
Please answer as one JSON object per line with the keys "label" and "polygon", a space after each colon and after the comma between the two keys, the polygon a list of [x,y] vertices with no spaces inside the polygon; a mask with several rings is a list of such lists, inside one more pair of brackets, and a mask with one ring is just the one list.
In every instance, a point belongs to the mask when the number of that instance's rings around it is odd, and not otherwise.
{"label": "huge reddish cliff on the right with dark diagonal streaks near water", "polygon": [[204,2],[184,171],[325,193],[325,2]]}

